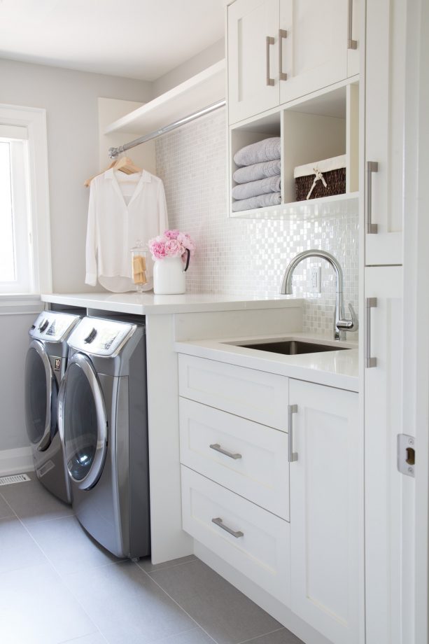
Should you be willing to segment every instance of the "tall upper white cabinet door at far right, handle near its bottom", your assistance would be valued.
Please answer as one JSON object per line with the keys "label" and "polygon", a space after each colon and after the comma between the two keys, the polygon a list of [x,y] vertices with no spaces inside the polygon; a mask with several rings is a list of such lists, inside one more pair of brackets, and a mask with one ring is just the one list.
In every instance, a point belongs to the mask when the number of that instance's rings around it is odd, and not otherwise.
{"label": "tall upper white cabinet door at far right, handle near its bottom", "polygon": [[405,10],[367,2],[365,264],[402,264]]}

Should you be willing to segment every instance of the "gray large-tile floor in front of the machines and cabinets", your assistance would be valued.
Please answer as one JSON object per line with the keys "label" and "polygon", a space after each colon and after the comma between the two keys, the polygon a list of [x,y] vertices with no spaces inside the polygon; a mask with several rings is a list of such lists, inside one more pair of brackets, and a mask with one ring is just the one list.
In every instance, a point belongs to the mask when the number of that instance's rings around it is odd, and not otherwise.
{"label": "gray large-tile floor in front of the machines and cabinets", "polygon": [[30,477],[0,487],[1,644],[300,644],[195,556],[115,559]]}

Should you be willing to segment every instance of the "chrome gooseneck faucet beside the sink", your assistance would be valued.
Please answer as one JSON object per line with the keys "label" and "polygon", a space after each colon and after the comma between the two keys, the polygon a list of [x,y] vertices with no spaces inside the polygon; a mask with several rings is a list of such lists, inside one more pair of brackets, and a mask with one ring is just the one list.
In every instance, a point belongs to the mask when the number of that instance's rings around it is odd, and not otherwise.
{"label": "chrome gooseneck faucet beside the sink", "polygon": [[309,257],[320,257],[321,259],[326,260],[330,263],[335,271],[335,276],[337,278],[337,288],[335,290],[334,339],[345,340],[346,331],[357,331],[359,323],[358,316],[356,315],[351,304],[349,304],[351,320],[346,319],[346,316],[344,314],[343,272],[342,267],[339,265],[339,262],[337,259],[335,259],[334,255],[331,255],[326,251],[318,251],[316,248],[310,251],[302,251],[302,253],[298,253],[298,255],[293,258],[293,260],[286,268],[285,274],[283,275],[283,281],[281,282],[280,293],[282,295],[292,295],[293,272],[297,265],[302,262],[302,260],[305,260]]}

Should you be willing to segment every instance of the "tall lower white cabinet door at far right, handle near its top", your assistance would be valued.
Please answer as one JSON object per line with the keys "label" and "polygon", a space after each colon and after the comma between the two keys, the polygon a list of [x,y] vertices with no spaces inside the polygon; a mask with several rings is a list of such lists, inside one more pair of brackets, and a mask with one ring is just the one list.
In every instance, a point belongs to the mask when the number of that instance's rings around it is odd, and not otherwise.
{"label": "tall lower white cabinet door at far right, handle near its top", "polygon": [[407,531],[414,529],[414,478],[397,468],[398,435],[415,433],[412,423],[402,425],[402,267],[365,269],[365,304],[367,644],[412,644]]}

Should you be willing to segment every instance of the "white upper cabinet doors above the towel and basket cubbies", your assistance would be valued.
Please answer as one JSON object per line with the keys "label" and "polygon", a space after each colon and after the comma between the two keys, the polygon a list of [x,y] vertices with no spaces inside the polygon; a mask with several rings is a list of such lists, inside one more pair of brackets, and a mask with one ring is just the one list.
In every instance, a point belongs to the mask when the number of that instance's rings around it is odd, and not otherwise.
{"label": "white upper cabinet doors above the towel and basket cubbies", "polygon": [[228,7],[230,124],[358,73],[358,10],[346,0],[236,0]]}

